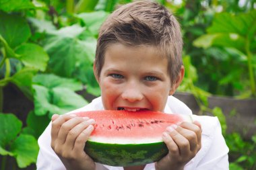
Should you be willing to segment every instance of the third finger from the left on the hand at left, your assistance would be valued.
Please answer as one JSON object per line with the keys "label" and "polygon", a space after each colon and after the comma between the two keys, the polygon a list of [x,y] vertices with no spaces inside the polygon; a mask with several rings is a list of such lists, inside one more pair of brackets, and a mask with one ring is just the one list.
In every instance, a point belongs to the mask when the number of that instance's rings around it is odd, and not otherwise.
{"label": "third finger from the left on the hand at left", "polygon": [[81,134],[83,132],[83,130],[88,128],[88,126],[90,126],[94,123],[95,123],[95,120],[90,119],[90,120],[87,120],[87,121],[84,121],[84,122],[81,122],[81,123],[77,124],[67,134],[67,139],[66,139],[65,144],[67,146],[72,146],[71,149],[73,149],[73,146],[75,146],[77,136],[79,136],[79,134]]}

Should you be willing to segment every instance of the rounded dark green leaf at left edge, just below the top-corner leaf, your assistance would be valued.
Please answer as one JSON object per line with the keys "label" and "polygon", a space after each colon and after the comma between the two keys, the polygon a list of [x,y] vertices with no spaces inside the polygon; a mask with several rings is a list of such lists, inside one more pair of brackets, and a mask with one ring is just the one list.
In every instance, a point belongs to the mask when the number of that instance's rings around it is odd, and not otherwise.
{"label": "rounded dark green leaf at left edge, just below the top-corner leaf", "polygon": [[30,38],[30,28],[26,19],[17,14],[7,14],[0,11],[0,34],[11,48],[14,48]]}

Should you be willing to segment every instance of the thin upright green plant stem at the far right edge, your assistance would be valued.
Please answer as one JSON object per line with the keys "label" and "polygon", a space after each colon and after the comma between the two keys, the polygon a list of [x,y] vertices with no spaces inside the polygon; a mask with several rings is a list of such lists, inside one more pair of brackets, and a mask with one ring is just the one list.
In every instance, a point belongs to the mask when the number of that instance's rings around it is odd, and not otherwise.
{"label": "thin upright green plant stem at the far right edge", "polygon": [[252,65],[252,54],[250,51],[250,43],[249,38],[246,38],[245,42],[245,51],[247,53],[247,65],[248,65],[248,71],[249,71],[249,79],[250,79],[250,85],[251,85],[251,94],[253,97],[256,97],[256,91],[255,91],[255,79],[254,79],[254,73],[253,73],[253,65]]}

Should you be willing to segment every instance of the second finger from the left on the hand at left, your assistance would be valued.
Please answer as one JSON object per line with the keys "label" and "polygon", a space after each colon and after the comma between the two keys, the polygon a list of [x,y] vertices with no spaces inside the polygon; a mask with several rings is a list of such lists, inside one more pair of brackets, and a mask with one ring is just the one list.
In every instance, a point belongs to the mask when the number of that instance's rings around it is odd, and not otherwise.
{"label": "second finger from the left on the hand at left", "polygon": [[[64,122],[61,125],[61,128],[59,130],[57,143],[58,144],[64,144],[67,138],[67,135],[71,132],[71,129],[73,129],[77,124],[80,124],[81,122],[84,122],[84,118],[72,118],[70,120],[67,120],[67,122]],[[73,133],[73,131],[71,132]]]}

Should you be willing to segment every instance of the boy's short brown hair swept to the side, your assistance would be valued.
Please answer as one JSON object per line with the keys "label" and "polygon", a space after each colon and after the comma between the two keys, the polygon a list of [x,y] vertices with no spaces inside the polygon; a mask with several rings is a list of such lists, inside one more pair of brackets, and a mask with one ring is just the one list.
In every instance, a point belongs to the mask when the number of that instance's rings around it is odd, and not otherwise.
{"label": "boy's short brown hair swept to the side", "polygon": [[170,81],[176,81],[182,61],[183,40],[177,19],[166,7],[152,1],[135,1],[111,13],[100,27],[96,46],[96,76],[104,65],[104,54],[110,44],[156,46],[168,59]]}

